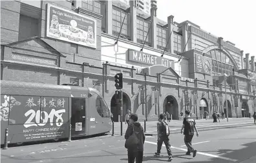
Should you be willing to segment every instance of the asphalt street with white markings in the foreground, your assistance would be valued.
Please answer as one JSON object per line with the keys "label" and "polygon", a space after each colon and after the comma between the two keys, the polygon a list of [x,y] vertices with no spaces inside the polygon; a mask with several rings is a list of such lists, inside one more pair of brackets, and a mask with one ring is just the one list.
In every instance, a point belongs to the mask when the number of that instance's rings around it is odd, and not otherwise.
{"label": "asphalt street with white markings in the foreground", "polygon": [[[172,162],[256,162],[256,125],[239,128],[201,131],[193,139],[198,150],[197,157],[185,155],[183,135],[169,136]],[[1,162],[5,163],[41,163],[41,162],[127,162],[127,150],[123,147],[123,136],[103,136],[80,139],[72,142],[56,142],[1,149]],[[162,157],[153,157],[156,151],[156,137],[146,137],[144,144],[144,162],[156,163],[167,160],[167,151],[162,148]]]}

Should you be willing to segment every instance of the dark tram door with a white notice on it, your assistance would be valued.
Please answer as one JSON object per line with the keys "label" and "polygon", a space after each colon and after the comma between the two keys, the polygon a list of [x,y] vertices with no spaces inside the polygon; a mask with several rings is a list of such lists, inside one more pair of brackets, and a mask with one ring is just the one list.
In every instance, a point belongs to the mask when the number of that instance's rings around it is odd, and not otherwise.
{"label": "dark tram door with a white notice on it", "polygon": [[71,99],[71,114],[72,135],[85,134],[85,99]]}

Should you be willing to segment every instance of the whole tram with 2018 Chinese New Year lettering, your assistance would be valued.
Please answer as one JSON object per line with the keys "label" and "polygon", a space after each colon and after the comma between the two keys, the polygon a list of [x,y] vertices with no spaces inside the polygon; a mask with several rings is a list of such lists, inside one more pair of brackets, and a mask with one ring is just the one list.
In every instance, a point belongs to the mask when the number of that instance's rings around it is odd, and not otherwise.
{"label": "whole tram with 2018 Chinese New Year lettering", "polygon": [[94,88],[1,81],[1,144],[67,139],[111,131],[110,111]]}

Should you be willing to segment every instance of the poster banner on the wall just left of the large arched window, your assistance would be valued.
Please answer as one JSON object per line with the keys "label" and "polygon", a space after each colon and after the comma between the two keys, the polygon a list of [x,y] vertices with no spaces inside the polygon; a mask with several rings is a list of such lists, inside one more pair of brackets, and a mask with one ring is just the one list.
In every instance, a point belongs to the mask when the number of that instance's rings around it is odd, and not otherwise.
{"label": "poster banner on the wall just left of the large arched window", "polygon": [[195,53],[195,71],[198,73],[211,74],[212,61],[209,57]]}

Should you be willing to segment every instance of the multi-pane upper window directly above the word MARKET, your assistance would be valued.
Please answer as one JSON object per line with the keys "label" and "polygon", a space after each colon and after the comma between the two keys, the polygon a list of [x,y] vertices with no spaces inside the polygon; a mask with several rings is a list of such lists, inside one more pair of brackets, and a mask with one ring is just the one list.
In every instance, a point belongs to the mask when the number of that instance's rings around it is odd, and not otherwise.
{"label": "multi-pane upper window directly above the word MARKET", "polygon": [[149,36],[147,36],[147,32],[149,31],[149,23],[146,23],[140,19],[137,19],[137,39],[141,41],[145,41],[147,37],[147,42],[149,41]]}

